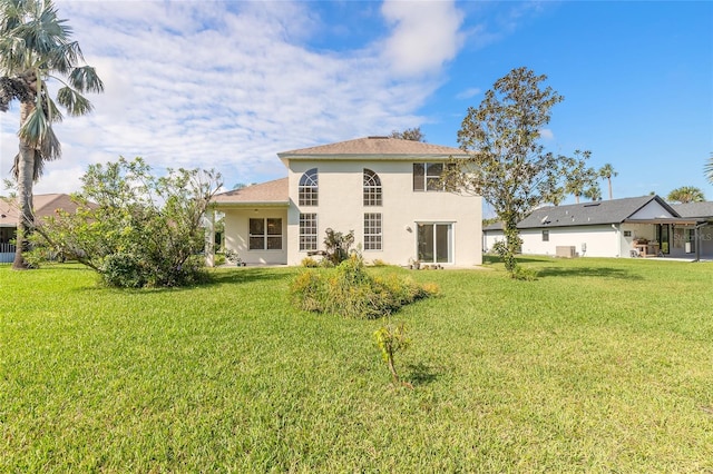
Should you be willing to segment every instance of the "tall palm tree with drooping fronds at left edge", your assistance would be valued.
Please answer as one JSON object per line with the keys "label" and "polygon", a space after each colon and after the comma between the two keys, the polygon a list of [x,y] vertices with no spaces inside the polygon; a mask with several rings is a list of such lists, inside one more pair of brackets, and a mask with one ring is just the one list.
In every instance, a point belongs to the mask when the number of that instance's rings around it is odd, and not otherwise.
{"label": "tall palm tree with drooping fronds at left edge", "polygon": [[[35,227],[32,185],[46,161],[61,156],[52,124],[62,119],[57,103],[71,116],[91,111],[82,92],[101,92],[94,68],[78,66],[84,56],[71,41],[71,27],[57,18],[51,0],[0,0],[0,110],[20,102],[20,149],[12,172],[18,186],[17,248],[12,268],[27,268],[22,253]],[[58,81],[56,102],[48,82]]]}

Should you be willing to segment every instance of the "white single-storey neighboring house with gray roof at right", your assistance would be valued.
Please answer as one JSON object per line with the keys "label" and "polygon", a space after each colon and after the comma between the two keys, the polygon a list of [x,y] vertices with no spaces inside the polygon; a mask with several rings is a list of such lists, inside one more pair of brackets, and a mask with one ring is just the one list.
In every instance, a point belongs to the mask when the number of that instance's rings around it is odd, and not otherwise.
{"label": "white single-storey neighboring house with gray roof at right", "polygon": [[[643,196],[541,207],[517,227],[522,254],[697,258],[695,243],[702,238],[702,221],[678,214],[658,196]],[[501,225],[484,229],[486,251],[502,239]],[[701,256],[713,256],[709,246],[701,247]]]}

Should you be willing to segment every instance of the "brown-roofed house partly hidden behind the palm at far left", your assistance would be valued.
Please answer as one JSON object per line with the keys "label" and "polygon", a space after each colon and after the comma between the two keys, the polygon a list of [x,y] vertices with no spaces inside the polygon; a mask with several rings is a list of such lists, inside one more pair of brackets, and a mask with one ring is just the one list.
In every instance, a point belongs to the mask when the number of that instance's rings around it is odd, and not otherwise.
{"label": "brown-roofed house partly hidden behind the palm at far left", "polygon": [[[53,216],[57,209],[68,213],[77,210],[77,205],[72,203],[69,195],[51,194],[35,195],[32,197],[35,206],[35,220],[41,221],[42,218]],[[0,199],[0,263],[11,263],[14,258],[14,245],[18,228],[19,213],[14,200]]]}

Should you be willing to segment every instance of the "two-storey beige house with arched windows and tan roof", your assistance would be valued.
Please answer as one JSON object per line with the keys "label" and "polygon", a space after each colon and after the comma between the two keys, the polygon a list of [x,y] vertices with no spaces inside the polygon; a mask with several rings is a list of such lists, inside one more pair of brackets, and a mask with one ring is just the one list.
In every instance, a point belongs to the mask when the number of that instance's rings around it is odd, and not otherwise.
{"label": "two-storey beige house with arched windows and tan roof", "polygon": [[367,260],[481,263],[481,198],[447,192],[440,180],[462,150],[367,137],[277,156],[286,178],[213,199],[225,214],[225,247],[243,261],[300,265],[331,228],[353,230]]}

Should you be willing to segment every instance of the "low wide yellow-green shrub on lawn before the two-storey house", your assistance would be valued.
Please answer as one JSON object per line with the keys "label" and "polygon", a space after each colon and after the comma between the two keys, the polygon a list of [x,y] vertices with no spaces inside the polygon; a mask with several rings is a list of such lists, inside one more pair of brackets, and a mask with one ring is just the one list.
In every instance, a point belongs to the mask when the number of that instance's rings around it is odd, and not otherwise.
{"label": "low wide yellow-green shrub on lawn before the two-storey house", "polygon": [[374,319],[438,292],[398,275],[372,277],[362,257],[352,254],[335,268],[309,268],[291,285],[294,304],[304,310]]}

